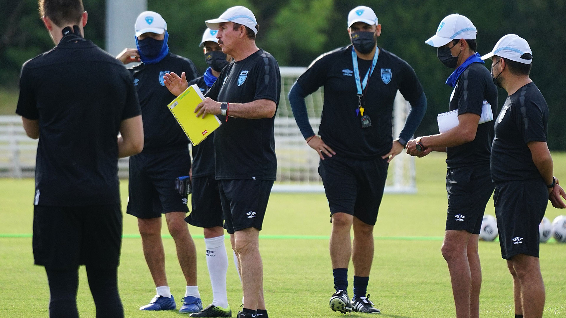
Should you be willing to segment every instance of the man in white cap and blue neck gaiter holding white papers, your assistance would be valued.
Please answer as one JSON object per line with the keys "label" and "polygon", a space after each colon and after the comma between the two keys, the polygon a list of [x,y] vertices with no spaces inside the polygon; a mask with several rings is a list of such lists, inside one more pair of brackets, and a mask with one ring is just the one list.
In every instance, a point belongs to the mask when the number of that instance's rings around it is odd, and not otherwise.
{"label": "man in white cap and blue neck gaiter holding white papers", "polygon": [[494,191],[490,151],[494,122],[480,121],[482,109],[497,109],[497,88],[476,53],[476,28],[463,15],[442,19],[426,44],[437,49],[445,66],[455,68],[446,84],[454,87],[448,109],[457,124],[441,134],[409,141],[407,153],[424,157],[431,151],[447,153],[448,210],[442,255],[447,261],[456,304],[456,317],[478,318],[482,269],[478,239],[487,201]]}

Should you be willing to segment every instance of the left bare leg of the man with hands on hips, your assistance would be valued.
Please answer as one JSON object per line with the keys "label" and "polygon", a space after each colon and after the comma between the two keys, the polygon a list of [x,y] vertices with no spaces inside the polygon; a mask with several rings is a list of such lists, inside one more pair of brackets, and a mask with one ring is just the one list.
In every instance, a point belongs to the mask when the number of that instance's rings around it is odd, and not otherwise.
{"label": "left bare leg of the man with hands on hips", "polygon": [[330,235],[330,258],[332,269],[348,268],[352,252],[350,229],[354,216],[337,212],[332,214],[332,233]]}

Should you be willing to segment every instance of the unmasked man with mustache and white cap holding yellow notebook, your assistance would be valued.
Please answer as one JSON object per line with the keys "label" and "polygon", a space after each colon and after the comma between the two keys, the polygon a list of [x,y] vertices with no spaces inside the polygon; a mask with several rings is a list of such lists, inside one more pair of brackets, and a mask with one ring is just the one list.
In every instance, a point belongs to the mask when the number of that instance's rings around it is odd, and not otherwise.
{"label": "unmasked man with mustache and white cap holding yellow notebook", "polygon": [[[273,127],[281,75],[276,59],[255,45],[258,23],[248,8],[231,7],[206,24],[218,30],[218,44],[234,62],[220,72],[195,112],[220,115],[224,122],[214,136],[215,171],[224,228],[240,264],[244,304],[238,317],[266,318],[259,231],[277,171]],[[166,78],[176,95],[187,87],[176,74]]]}

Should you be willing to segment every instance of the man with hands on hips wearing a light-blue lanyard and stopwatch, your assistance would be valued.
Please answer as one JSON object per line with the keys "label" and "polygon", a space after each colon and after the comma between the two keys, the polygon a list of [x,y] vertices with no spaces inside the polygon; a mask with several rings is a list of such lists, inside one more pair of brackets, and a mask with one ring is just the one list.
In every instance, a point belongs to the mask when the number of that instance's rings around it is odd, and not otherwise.
{"label": "man with hands on hips wearing a light-blue lanyard and stopwatch", "polygon": [[[289,101],[303,137],[320,156],[319,174],[332,222],[330,256],[336,291],[330,307],[342,313],[380,313],[366,295],[374,258],[374,225],[389,161],[417,130],[426,97],[413,68],[377,46],[381,25],[371,8],[351,10],[347,27],[352,45],[316,59],[293,85]],[[305,97],[323,86],[317,136],[308,122]],[[397,90],[410,102],[411,111],[400,136],[393,140],[391,118]],[[351,300],[347,291],[350,257],[354,264]]]}

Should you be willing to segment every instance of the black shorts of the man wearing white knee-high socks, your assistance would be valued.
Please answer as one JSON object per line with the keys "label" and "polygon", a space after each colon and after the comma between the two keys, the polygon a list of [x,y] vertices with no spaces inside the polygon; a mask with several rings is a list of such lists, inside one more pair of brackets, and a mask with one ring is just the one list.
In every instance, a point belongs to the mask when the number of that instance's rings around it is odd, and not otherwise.
{"label": "black shorts of the man wearing white knee-high socks", "polygon": [[224,214],[220,203],[220,190],[214,175],[192,178],[192,212],[185,221],[198,227],[224,225]]}

